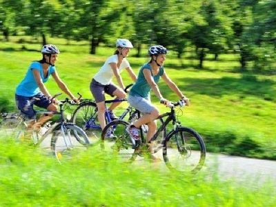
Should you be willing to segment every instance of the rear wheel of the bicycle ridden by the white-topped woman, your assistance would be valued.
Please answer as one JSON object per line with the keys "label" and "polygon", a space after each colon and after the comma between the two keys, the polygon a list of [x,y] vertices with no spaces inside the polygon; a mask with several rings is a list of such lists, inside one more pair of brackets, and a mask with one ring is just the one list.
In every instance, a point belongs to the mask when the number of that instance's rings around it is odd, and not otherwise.
{"label": "rear wheel of the bicycle ridden by the white-topped woman", "polygon": [[73,112],[71,122],[79,126],[92,142],[101,138],[101,126],[97,119],[97,106],[92,101],[81,103]]}

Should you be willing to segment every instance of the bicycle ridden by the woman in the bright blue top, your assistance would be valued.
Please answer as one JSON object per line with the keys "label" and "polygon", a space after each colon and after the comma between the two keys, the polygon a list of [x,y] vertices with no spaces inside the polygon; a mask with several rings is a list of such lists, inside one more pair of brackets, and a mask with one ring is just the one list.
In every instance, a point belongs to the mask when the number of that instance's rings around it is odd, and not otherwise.
{"label": "bicycle ridden by the woman in the bright blue top", "polygon": [[[35,146],[40,146],[43,141],[50,139],[51,152],[59,161],[66,160],[79,150],[86,150],[90,145],[86,132],[79,126],[69,123],[64,115],[66,106],[73,104],[75,104],[74,101],[66,98],[63,101],[58,101],[59,111],[57,112],[37,111],[38,115],[57,115],[59,117],[54,124],[52,124],[52,121],[47,121],[39,132],[28,130],[27,119],[20,113],[2,114],[2,126],[12,126],[12,132],[17,139],[30,137]],[[49,147],[47,146],[46,148]]]}

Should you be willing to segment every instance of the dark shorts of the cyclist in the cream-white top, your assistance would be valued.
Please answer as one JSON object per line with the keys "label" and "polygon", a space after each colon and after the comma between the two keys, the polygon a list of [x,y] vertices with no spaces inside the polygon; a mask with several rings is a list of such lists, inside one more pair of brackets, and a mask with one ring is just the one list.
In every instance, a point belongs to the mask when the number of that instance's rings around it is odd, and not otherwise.
{"label": "dark shorts of the cyclist in the cream-white top", "polygon": [[92,79],[90,83],[90,91],[92,92],[92,95],[96,101],[96,103],[102,102],[106,100],[106,97],[104,96],[104,93],[106,92],[108,95],[114,97],[113,93],[117,90],[117,87],[113,85],[112,83],[108,85],[103,85],[99,83],[98,81],[95,81],[95,79]]}

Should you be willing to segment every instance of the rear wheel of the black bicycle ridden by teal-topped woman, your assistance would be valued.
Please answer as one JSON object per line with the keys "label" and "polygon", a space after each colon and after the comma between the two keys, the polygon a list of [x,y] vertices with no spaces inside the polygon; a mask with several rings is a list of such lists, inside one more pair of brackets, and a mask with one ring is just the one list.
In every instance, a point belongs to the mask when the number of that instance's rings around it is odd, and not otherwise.
{"label": "rear wheel of the black bicycle ridden by teal-topped woman", "polygon": [[[135,152],[135,150],[132,149],[130,135],[126,130],[128,126],[129,123],[127,121],[119,119],[111,121],[106,125],[101,134],[104,150],[114,152],[124,161],[130,160]],[[110,137],[110,135],[112,135],[112,137]]]}

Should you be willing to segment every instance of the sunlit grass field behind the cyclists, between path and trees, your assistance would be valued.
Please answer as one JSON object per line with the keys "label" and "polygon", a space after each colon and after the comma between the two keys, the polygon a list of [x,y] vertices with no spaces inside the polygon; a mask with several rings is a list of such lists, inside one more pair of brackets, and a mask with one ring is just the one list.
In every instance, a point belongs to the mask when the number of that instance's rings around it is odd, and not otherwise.
{"label": "sunlit grass field behind the cyclists, between path and trees", "polygon": [[[31,61],[41,58],[39,52],[21,51],[40,50],[37,43],[15,43],[19,37],[12,37],[10,42],[0,43],[0,93],[1,110],[14,110],[14,90],[26,73]],[[30,37],[23,37],[30,41]],[[61,50],[57,61],[59,76],[75,94],[91,98],[89,83],[95,72],[112,55],[115,48],[97,48],[97,55],[89,55],[86,42],[70,42],[63,39],[50,39]],[[78,45],[79,44],[79,45]],[[143,57],[134,57],[136,51],[130,51],[128,57],[132,68],[148,61],[146,47]],[[207,150],[224,152],[230,155],[276,159],[275,141],[275,106],[276,76],[260,75],[252,71],[239,72],[238,55],[219,56],[213,61],[207,56],[204,68],[197,69],[197,60],[190,52],[186,53],[182,63],[170,52],[165,63],[169,77],[190,98],[191,106],[179,116],[182,124],[197,130],[206,141]],[[127,72],[122,73],[125,83],[130,83]],[[59,92],[53,80],[46,86],[52,94]],[[177,101],[177,97],[160,81],[161,92],[167,99]],[[161,112],[167,109],[152,101]],[[119,109],[118,109],[119,110]]]}

